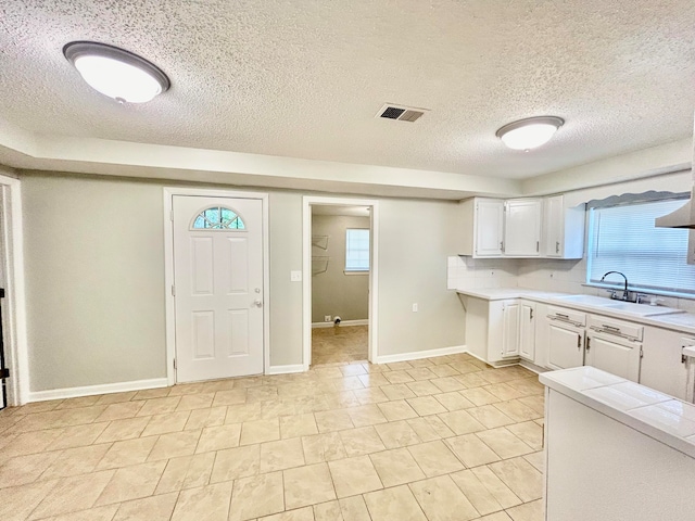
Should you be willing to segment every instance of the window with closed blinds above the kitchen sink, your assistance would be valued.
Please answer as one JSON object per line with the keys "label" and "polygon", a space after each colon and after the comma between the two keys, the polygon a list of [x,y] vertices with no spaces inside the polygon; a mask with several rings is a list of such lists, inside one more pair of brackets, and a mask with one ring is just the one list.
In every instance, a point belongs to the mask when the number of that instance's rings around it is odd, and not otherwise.
{"label": "window with closed blinds above the kitchen sink", "polygon": [[[695,266],[686,264],[688,230],[654,226],[655,218],[683,204],[680,199],[590,208],[586,281],[598,283],[616,270],[631,290],[695,294]],[[615,275],[604,283],[614,281],[622,287]]]}

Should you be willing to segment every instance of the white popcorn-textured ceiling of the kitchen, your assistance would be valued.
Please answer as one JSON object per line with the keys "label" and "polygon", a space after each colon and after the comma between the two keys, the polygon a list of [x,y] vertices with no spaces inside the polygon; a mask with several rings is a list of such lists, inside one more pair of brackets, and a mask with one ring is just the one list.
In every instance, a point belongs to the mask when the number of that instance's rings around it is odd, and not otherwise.
{"label": "white popcorn-textured ceiling of the kitchen", "polygon": [[[693,0],[3,0],[0,118],[26,130],[526,178],[692,135]],[[172,79],[122,106],[62,55],[123,47]],[[430,109],[375,119],[384,102]],[[531,153],[495,130],[567,120]]]}

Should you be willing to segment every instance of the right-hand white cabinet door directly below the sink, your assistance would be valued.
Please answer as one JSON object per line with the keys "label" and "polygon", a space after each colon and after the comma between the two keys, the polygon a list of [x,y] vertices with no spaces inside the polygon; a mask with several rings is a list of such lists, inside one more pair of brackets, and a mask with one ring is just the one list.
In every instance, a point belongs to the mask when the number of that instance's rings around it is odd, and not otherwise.
{"label": "right-hand white cabinet door directly below the sink", "polygon": [[587,334],[584,365],[639,382],[641,347],[641,344],[629,341],[612,341],[605,336]]}

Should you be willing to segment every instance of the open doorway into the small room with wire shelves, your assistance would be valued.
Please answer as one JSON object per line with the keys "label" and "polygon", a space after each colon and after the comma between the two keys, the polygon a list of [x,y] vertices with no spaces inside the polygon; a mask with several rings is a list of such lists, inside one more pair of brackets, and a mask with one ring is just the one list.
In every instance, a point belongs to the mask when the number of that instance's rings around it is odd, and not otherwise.
{"label": "open doorway into the small room with wire shelves", "polygon": [[305,198],[304,366],[376,353],[375,201]]}

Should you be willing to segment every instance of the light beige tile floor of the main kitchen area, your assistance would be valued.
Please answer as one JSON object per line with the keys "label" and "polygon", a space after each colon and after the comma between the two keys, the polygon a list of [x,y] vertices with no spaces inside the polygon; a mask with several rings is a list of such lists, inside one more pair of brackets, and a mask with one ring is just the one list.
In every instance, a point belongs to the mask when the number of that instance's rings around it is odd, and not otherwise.
{"label": "light beige tile floor of the main kitchen area", "polygon": [[542,519],[543,389],[468,355],[0,411],[0,519]]}

